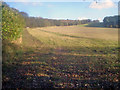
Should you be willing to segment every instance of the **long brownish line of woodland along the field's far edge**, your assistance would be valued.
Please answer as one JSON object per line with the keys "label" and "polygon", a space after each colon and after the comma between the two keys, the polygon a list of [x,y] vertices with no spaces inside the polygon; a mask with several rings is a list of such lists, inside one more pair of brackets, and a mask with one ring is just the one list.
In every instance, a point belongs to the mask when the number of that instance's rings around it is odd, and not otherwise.
{"label": "long brownish line of woodland along the field's far edge", "polygon": [[71,25],[80,25],[87,24],[91,22],[99,22],[98,20],[56,20],[56,19],[47,19],[42,17],[29,17],[25,12],[20,12],[24,16],[26,27],[45,27],[45,26],[71,26]]}

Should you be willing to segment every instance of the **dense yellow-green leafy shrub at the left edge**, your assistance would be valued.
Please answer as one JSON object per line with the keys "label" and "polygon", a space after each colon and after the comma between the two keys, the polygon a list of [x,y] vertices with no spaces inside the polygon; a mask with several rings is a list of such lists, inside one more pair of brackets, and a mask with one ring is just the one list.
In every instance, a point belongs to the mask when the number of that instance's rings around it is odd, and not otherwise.
{"label": "dense yellow-green leafy shrub at the left edge", "polygon": [[24,27],[24,19],[18,11],[3,3],[2,5],[2,39],[15,40],[20,37]]}

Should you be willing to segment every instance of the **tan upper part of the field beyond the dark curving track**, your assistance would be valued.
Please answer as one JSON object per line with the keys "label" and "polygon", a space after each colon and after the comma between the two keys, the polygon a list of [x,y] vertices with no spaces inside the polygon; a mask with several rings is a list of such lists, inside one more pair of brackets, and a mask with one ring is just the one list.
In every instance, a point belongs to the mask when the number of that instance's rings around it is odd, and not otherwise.
{"label": "tan upper part of the field beyond the dark curving track", "polygon": [[58,32],[78,37],[98,38],[105,40],[118,40],[117,28],[97,28],[97,27],[80,27],[80,26],[60,26],[41,28],[46,31]]}

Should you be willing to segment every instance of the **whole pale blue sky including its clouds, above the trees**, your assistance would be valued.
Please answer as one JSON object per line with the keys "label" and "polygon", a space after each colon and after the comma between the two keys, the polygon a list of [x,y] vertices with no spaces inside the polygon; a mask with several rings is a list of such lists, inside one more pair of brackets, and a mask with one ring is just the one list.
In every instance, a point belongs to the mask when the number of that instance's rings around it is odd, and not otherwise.
{"label": "whole pale blue sky including its clouds, above the trees", "polygon": [[[25,1],[25,0],[24,0]],[[28,1],[28,0],[27,0]],[[118,14],[118,3],[104,2],[7,2],[10,7],[24,11],[29,16],[49,19],[98,19]]]}

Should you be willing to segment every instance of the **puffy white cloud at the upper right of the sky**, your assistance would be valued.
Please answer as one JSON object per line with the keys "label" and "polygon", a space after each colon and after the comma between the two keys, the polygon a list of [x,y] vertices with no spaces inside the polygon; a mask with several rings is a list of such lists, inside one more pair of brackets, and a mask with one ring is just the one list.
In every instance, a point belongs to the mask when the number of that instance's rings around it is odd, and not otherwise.
{"label": "puffy white cloud at the upper right of the sky", "polygon": [[112,8],[116,7],[114,2],[112,0],[105,0],[104,2],[92,2],[89,6],[90,8],[96,8],[96,9],[104,9],[104,8]]}

